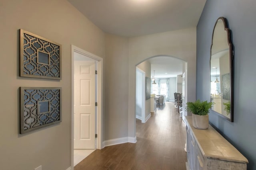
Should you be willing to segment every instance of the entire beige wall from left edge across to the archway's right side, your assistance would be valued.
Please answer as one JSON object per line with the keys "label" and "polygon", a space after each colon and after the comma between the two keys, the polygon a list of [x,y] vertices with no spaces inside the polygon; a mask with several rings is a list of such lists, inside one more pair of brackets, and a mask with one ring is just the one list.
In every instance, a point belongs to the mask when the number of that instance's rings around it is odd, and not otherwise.
{"label": "entire beige wall from left edge across to the archway's right side", "polygon": [[[103,140],[135,137],[136,65],[149,57],[169,55],[186,61],[188,101],[195,99],[196,28],[130,39],[105,35],[66,0],[1,0],[0,23],[0,164],[4,170],[71,166],[71,45],[104,58]],[[62,45],[62,80],[18,76],[18,29]],[[62,87],[62,123],[20,135],[20,86]]]}

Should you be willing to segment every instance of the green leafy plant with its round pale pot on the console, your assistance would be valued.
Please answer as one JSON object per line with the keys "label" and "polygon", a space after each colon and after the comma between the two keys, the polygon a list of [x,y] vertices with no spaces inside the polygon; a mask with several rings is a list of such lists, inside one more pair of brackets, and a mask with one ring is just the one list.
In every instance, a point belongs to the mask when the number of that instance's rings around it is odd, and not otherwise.
{"label": "green leafy plant with its round pale pot on the console", "polygon": [[209,127],[209,109],[214,102],[200,101],[187,102],[186,110],[192,112],[192,125],[196,129],[208,129]]}

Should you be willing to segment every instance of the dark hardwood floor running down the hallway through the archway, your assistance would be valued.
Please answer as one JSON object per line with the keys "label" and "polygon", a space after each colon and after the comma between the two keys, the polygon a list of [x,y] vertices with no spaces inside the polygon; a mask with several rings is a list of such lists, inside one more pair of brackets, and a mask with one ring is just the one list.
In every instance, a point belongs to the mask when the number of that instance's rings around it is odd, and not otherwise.
{"label": "dark hardwood floor running down the hallway through the archway", "polygon": [[136,119],[137,143],[95,150],[74,170],[186,170],[186,129],[174,103],[157,108],[146,123]]}

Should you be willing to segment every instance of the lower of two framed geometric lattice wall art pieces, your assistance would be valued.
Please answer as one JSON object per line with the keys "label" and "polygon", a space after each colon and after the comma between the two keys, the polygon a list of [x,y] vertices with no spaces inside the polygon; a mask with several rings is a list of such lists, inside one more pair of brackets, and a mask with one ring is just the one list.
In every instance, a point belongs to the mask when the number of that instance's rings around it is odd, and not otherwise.
{"label": "lower of two framed geometric lattice wall art pieces", "polygon": [[61,88],[20,87],[20,134],[61,122]]}

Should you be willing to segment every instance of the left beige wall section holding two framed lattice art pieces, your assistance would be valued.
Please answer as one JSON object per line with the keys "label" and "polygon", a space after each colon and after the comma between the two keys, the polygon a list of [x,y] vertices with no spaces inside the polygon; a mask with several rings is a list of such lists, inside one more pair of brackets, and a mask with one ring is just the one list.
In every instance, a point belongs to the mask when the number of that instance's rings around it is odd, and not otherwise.
{"label": "left beige wall section holding two framed lattice art pieces", "polygon": [[[18,75],[18,29],[62,44],[62,80]],[[71,44],[104,58],[104,33],[66,0],[0,2],[0,165],[2,170],[71,166]],[[62,87],[62,123],[19,134],[19,87]]]}

